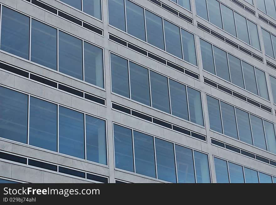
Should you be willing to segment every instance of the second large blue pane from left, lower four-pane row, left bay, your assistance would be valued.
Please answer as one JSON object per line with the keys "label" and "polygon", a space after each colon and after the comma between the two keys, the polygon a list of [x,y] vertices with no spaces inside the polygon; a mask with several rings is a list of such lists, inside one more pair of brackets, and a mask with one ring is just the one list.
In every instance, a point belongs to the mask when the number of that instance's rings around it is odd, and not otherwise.
{"label": "second large blue pane from left, lower four-pane row, left bay", "polygon": [[57,151],[57,105],[30,97],[29,144]]}

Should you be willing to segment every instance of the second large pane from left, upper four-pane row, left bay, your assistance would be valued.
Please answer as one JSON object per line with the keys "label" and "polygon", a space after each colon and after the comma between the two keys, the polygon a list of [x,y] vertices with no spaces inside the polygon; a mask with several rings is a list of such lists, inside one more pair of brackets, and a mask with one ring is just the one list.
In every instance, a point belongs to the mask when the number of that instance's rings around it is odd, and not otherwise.
{"label": "second large pane from left, upper four-pane row, left bay", "polygon": [[31,61],[57,70],[57,29],[32,19]]}

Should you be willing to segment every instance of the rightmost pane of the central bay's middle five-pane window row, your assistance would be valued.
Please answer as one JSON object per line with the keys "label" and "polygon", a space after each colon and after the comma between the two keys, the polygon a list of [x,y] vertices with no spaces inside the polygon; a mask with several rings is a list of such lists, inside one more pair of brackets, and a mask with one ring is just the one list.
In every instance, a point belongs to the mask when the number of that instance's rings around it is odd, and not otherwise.
{"label": "rightmost pane of the central bay's middle five-pane window row", "polygon": [[190,121],[204,126],[201,95],[198,90],[187,87]]}

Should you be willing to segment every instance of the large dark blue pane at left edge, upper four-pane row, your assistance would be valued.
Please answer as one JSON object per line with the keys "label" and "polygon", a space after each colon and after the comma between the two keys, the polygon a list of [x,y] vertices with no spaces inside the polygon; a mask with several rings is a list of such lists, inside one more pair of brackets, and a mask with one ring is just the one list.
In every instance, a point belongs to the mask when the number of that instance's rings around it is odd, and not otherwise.
{"label": "large dark blue pane at left edge, upper four-pane row", "polygon": [[1,50],[29,60],[30,18],[2,7]]}

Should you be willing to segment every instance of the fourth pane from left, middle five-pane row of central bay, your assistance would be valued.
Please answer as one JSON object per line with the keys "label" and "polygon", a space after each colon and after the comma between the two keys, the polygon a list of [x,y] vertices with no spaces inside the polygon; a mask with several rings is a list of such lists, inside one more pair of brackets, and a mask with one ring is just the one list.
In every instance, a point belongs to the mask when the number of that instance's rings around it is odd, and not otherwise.
{"label": "fourth pane from left, middle five-pane row of central bay", "polygon": [[186,86],[169,79],[172,114],[189,120]]}

